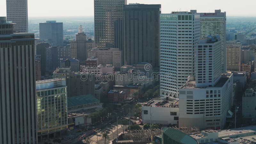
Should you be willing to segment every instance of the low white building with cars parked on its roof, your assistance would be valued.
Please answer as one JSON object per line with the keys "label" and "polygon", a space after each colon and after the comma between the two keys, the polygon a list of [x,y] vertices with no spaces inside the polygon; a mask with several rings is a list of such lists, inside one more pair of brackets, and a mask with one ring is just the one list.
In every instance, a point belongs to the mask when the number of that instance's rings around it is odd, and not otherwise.
{"label": "low white building with cars parked on its roof", "polygon": [[168,100],[168,103],[163,106],[155,106],[155,103],[158,101],[163,100],[154,100],[151,105],[142,106],[142,122],[151,122],[152,124],[178,124],[179,100]]}

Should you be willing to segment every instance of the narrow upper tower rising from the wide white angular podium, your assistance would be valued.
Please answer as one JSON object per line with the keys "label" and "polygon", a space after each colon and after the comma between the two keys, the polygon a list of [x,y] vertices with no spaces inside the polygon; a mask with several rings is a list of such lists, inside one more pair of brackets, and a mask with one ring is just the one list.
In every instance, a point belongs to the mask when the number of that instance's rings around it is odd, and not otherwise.
{"label": "narrow upper tower rising from the wide white angular podium", "polygon": [[196,87],[214,86],[221,75],[220,36],[201,38],[195,48]]}

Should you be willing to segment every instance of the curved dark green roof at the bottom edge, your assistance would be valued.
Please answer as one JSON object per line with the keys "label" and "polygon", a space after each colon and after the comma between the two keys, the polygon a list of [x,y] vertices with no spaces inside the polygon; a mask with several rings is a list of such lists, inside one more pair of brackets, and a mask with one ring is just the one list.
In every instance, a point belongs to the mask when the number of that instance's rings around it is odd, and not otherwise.
{"label": "curved dark green roof at the bottom edge", "polygon": [[164,127],[162,144],[199,144],[194,138],[179,130]]}

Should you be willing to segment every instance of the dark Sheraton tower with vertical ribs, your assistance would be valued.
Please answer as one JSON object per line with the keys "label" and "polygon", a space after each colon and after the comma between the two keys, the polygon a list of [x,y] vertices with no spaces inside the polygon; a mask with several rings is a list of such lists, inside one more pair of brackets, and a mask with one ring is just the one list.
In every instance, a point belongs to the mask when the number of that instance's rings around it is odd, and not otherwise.
{"label": "dark Sheraton tower with vertical ribs", "polygon": [[160,4],[124,6],[124,64],[152,63],[159,67]]}

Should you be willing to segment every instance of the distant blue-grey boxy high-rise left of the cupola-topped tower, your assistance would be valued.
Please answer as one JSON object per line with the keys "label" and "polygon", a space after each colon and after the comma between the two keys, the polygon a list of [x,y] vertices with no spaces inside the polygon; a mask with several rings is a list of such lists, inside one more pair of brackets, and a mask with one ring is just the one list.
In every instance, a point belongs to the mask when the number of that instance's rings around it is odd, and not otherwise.
{"label": "distant blue-grey boxy high-rise left of the cupola-topped tower", "polygon": [[40,40],[49,41],[52,46],[63,45],[63,23],[56,20],[39,23]]}

